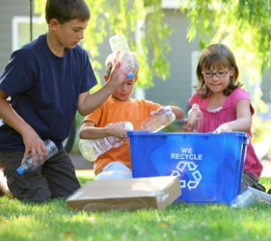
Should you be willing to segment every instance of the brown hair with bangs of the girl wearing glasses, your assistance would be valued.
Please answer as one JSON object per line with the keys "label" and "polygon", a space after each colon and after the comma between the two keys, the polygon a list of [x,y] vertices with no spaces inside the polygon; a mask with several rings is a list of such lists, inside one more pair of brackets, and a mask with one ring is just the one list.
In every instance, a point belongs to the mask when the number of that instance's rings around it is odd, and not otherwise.
{"label": "brown hair with bangs of the girl wearing glasses", "polygon": [[210,88],[205,85],[204,78],[202,76],[202,70],[210,70],[211,68],[234,68],[234,75],[229,79],[229,86],[224,89],[223,94],[229,96],[229,94],[242,84],[238,82],[238,66],[236,64],[235,57],[229,48],[221,43],[212,44],[201,52],[201,57],[198,62],[196,74],[198,78],[198,85],[196,90],[199,91],[201,97],[208,97],[210,95]]}

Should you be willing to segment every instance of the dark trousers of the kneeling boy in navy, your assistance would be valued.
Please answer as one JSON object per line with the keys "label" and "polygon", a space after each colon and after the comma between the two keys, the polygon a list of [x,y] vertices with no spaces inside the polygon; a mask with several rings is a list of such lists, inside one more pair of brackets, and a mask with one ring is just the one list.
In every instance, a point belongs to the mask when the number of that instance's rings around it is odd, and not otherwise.
{"label": "dark trousers of the kneeling boy in navy", "polygon": [[67,197],[80,185],[68,153],[59,151],[35,171],[23,176],[16,174],[21,165],[23,153],[0,153],[9,190],[14,198],[33,202]]}

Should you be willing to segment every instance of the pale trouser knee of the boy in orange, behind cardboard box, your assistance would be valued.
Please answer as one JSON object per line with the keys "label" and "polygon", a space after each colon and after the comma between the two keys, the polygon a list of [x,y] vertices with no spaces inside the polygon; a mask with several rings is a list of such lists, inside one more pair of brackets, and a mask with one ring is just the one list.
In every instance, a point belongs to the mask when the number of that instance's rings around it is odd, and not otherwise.
{"label": "pale trouser knee of the boy in orange, behind cardboard box", "polygon": [[95,181],[128,178],[132,178],[132,171],[126,165],[121,162],[110,162],[104,167],[103,171],[98,173]]}

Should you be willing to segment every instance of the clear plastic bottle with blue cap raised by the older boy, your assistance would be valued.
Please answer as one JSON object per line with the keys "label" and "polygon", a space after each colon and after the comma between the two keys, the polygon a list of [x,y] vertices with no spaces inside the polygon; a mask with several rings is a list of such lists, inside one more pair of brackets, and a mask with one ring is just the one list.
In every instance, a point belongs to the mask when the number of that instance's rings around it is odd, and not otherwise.
{"label": "clear plastic bottle with blue cap raised by the older boy", "polygon": [[128,79],[133,79],[135,77],[135,74],[133,73],[135,61],[131,55],[125,35],[114,35],[109,39],[109,43],[111,50],[116,53],[116,59],[121,64],[120,69],[126,73]]}

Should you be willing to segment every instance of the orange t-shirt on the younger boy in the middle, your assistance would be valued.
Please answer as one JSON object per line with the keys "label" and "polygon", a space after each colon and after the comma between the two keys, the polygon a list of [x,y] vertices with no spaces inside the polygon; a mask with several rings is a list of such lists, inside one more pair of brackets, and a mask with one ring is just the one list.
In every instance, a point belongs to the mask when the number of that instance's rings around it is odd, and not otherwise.
{"label": "orange t-shirt on the younger boy in the middle", "polygon": [[[129,121],[134,130],[139,130],[150,113],[160,104],[145,99],[130,99],[119,101],[109,97],[100,107],[85,116],[84,122],[92,121],[97,127],[104,127],[109,123]],[[117,148],[109,150],[98,157],[94,162],[94,172],[97,175],[109,162],[122,162],[131,169],[131,153],[129,140]]]}

